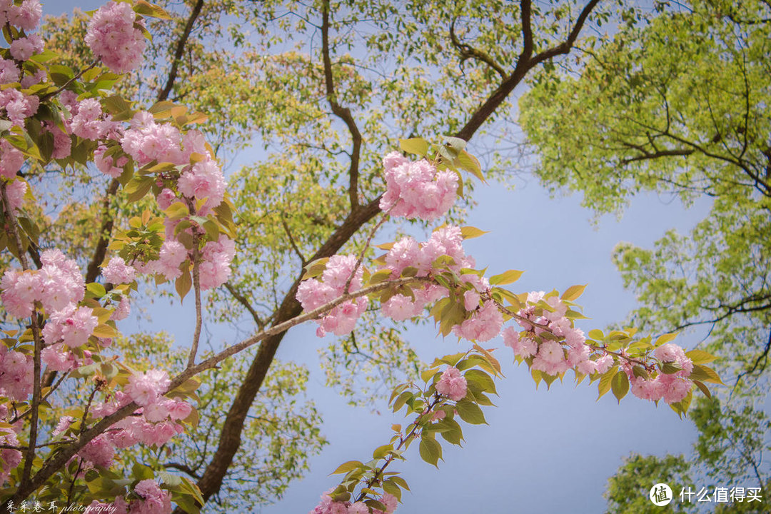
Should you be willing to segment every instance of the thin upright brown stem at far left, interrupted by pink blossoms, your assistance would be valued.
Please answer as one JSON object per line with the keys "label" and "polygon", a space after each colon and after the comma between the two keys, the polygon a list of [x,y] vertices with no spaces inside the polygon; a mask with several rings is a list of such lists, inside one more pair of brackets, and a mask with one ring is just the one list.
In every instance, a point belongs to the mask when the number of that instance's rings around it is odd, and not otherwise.
{"label": "thin upright brown stem at far left, interrupted by pink blossoms", "polygon": [[[19,262],[22,263],[24,270],[29,270],[29,260],[27,260],[27,254],[22,247],[22,237],[19,235],[19,222],[16,220],[16,214],[11,208],[11,203],[8,201],[8,190],[6,188],[8,184],[3,182],[0,186],[0,194],[2,194],[2,207],[5,211],[5,219],[8,220],[10,230],[13,234],[14,244],[16,245],[16,252],[19,256]],[[19,484],[19,489],[25,485],[29,485],[32,478],[32,462],[35,460],[35,445],[38,442],[38,414],[40,408],[40,352],[42,351],[42,339],[40,338],[40,326],[38,320],[38,307],[35,302],[32,304],[32,316],[30,317],[32,327],[32,339],[35,341],[35,351],[32,356],[32,406],[29,408],[32,412],[32,416],[29,419],[29,448],[27,448],[27,455],[25,455],[24,469],[22,471],[22,480]]]}

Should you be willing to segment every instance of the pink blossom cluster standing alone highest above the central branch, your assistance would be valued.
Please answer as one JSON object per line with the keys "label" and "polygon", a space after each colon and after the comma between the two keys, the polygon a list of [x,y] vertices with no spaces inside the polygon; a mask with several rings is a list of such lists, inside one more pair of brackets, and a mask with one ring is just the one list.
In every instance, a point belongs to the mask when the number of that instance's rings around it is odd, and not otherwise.
{"label": "pink blossom cluster standing alone highest above the central branch", "polygon": [[435,220],[453,207],[457,197],[456,173],[437,171],[422,159],[412,162],[401,153],[391,152],[383,158],[385,194],[380,209],[392,216]]}

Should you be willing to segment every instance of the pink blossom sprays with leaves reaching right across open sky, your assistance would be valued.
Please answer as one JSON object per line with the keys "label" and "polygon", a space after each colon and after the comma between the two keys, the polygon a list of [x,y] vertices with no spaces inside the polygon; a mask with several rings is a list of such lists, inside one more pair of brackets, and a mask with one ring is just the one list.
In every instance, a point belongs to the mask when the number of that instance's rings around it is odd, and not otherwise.
{"label": "pink blossom sprays with leaves reaching right across open sky", "polygon": [[[381,209],[393,217],[407,219],[420,217],[430,221],[443,216],[461,190],[459,169],[478,171],[475,160],[465,153],[464,143],[458,140],[435,146],[433,151],[423,139],[402,139],[401,143],[406,153],[424,158],[411,161],[400,153],[385,156],[388,190],[382,197]],[[631,387],[638,398],[655,402],[663,399],[681,416],[687,412],[695,388],[709,396],[705,382],[722,384],[715,371],[705,366],[714,357],[699,350],[686,353],[671,342],[675,334],[664,334],[654,342],[649,336],[635,339],[637,331],[628,328],[607,335],[591,330],[587,337],[574,325],[584,318],[581,308],[574,303],[584,286],[569,287],[561,295],[557,291],[515,294],[502,286],[517,281],[520,271],[507,270],[485,277],[482,270],[474,269],[473,257],[463,250],[464,239],[481,234],[483,231],[475,227],[443,226],[434,230],[424,243],[403,237],[381,244],[378,247],[387,253],[373,261],[379,267],[375,270],[360,268],[361,256],[369,247],[368,239],[359,258],[335,255],[306,267],[306,280],[297,294],[306,311],[345,291],[345,277],[354,288],[367,283],[390,284],[406,277],[424,279],[419,284],[392,284],[368,298],[335,307],[316,320],[320,337],[329,331],[338,336],[350,333],[368,301],[377,300],[382,314],[393,321],[406,321],[429,311],[439,334],[455,334],[473,343],[473,353],[447,356],[424,371],[422,378],[427,385],[418,393],[405,391],[409,384],[393,391],[394,411],[408,405],[408,414],[417,413],[416,419],[406,432],[401,432],[400,425],[394,425],[397,435],[389,445],[375,450],[372,461],[341,465],[334,473],[345,473],[343,481],[322,496],[311,511],[313,514],[394,512],[401,490],[409,488],[404,479],[394,472],[385,472],[385,468],[394,460],[403,459],[410,442],[421,438],[421,458],[436,465],[441,458],[441,445],[433,436],[435,432],[453,444],[460,445],[462,440],[455,414],[466,422],[484,422],[480,405],[492,405],[486,393],[495,392],[493,378],[500,375],[500,365],[477,342],[490,341],[499,334],[504,344],[512,348],[515,361],[525,362],[530,368],[536,384],[544,381],[551,385],[573,370],[577,383],[587,377],[598,381],[600,396],[612,390],[620,402]],[[503,328],[511,320],[521,330],[513,326]],[[437,366],[442,364],[449,368],[438,370]],[[473,368],[475,364],[480,369]],[[461,375],[463,370],[466,371]]]}

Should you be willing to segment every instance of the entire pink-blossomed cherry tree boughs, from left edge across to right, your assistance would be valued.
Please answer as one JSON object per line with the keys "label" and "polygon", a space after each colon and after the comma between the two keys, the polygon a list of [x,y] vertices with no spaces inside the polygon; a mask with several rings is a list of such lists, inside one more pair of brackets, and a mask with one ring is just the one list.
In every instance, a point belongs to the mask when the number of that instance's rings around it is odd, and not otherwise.
{"label": "entire pink-blossomed cherry tree boughs, from left edge across to right", "polygon": [[[470,348],[436,359],[421,383],[393,391],[394,412],[405,409],[412,421],[393,425],[395,435],[371,461],[341,465],[336,472],[344,479],[314,512],[393,512],[408,485],[390,466],[412,442],[419,440],[421,458],[436,465],[442,455],[436,435],[460,445],[459,420],[484,422],[480,406],[492,405],[501,367],[481,344],[499,334],[536,382],[550,385],[572,370],[577,381],[598,381],[600,395],[612,390],[620,401],[631,388],[681,415],[696,388],[709,395],[704,383],[720,382],[704,365],[712,356],[683,351],[670,342],[674,334],[655,341],[631,328],[584,334],[574,326],[583,317],[574,304],[583,287],[515,294],[503,286],[519,271],[486,277],[463,250],[464,239],[482,233],[473,227],[438,227],[423,243],[404,237],[380,244],[386,253],[365,261],[386,220],[443,217],[463,193],[462,172],[482,178],[457,138],[434,146],[402,139],[403,153],[383,160],[382,220],[361,252],[308,264],[297,293],[303,314],[199,361],[201,291],[227,281],[236,250],[221,167],[204,136],[190,128],[205,116],[166,101],[142,108],[111,91],[121,74],[140,65],[144,17],[165,13],[142,0],[109,2],[94,12],[86,42],[96,60],[82,70],[62,66],[44,49],[34,33],[41,14],[38,0],[0,0],[8,43],[0,49],[0,250],[16,260],[2,274],[0,300],[19,326],[4,330],[0,344],[2,512],[33,496],[42,504],[77,499],[113,512],[167,513],[173,505],[197,512],[204,499],[194,482],[143,465],[119,474],[121,451],[160,448],[196,425],[201,371],[305,321],[315,320],[322,337],[348,334],[370,304],[394,321],[427,313],[440,334],[469,341]],[[116,179],[129,202],[151,196],[157,208],[143,210],[113,237],[103,280],[86,282],[61,250],[39,248],[39,228],[28,214],[35,197],[25,177],[52,164],[67,170],[89,163]],[[180,298],[194,296],[187,368],[176,376],[135,371],[110,350],[117,323],[147,280],[173,281]],[[85,385],[87,398],[69,406],[56,428],[42,430],[42,412],[67,381]]]}

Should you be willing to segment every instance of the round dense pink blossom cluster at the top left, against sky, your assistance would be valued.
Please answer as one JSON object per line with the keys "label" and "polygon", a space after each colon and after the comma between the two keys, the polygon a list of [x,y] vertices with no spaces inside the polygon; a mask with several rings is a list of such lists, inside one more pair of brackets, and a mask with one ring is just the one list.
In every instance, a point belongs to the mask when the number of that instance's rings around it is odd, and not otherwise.
{"label": "round dense pink blossom cluster at the top left, against sky", "polygon": [[130,4],[109,2],[96,11],[86,31],[86,45],[113,72],[126,73],[142,64],[146,41],[144,20]]}

